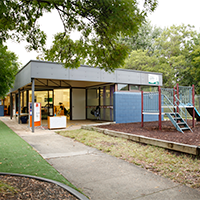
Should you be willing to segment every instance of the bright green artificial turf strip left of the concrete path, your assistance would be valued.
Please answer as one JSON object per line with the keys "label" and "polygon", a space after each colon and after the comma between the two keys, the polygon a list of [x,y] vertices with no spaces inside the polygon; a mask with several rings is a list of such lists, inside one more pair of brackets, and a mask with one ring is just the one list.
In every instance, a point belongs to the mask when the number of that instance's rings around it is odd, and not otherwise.
{"label": "bright green artificial turf strip left of the concrete path", "polygon": [[0,121],[0,172],[44,177],[77,190],[28,143]]}

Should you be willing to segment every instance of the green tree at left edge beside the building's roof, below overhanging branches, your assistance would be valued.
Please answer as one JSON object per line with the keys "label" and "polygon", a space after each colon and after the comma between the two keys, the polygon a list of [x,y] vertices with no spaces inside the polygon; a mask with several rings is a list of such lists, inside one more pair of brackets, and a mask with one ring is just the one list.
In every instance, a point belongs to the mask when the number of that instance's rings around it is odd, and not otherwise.
{"label": "green tree at left edge beside the building's roof, below overhanging branches", "polygon": [[0,66],[0,98],[4,98],[14,83],[19,64],[16,55],[3,45],[0,45]]}

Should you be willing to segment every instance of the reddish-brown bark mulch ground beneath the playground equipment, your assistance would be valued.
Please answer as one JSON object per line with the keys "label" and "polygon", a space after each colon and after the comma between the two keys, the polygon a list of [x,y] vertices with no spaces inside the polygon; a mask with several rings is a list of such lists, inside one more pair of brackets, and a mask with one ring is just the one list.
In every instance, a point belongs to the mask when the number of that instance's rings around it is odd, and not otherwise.
{"label": "reddish-brown bark mulch ground beneath the playground equipment", "polygon": [[[188,120],[188,125],[190,128],[192,127],[191,120]],[[187,130],[184,131],[184,133],[177,131],[171,121],[163,121],[161,131],[158,128],[158,122],[145,122],[143,128],[141,127],[141,123],[102,125],[99,126],[99,128],[106,128],[161,140],[200,146],[200,123],[195,124],[195,127],[192,128],[193,132]]]}

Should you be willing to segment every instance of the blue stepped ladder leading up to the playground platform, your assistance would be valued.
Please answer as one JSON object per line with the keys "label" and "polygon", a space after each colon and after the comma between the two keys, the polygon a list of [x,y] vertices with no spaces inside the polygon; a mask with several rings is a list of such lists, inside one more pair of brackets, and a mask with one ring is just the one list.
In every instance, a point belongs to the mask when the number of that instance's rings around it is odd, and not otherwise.
{"label": "blue stepped ladder leading up to the playground platform", "polygon": [[184,119],[181,117],[179,113],[177,112],[166,113],[166,115],[170,119],[172,124],[176,127],[177,131],[180,131],[181,133],[183,133],[183,131],[185,130],[192,131],[188,126],[188,124],[186,123],[186,121],[184,121]]}

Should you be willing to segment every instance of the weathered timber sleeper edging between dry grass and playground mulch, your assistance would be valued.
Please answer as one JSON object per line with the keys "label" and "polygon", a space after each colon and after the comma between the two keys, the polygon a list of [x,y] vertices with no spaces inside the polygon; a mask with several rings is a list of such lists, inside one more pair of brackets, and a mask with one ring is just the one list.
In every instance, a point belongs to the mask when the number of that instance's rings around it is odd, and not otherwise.
{"label": "weathered timber sleeper edging between dry grass and playground mulch", "polygon": [[165,149],[180,151],[180,152],[193,154],[193,155],[197,155],[197,156],[200,155],[200,146],[176,143],[176,142],[171,142],[171,141],[167,141],[167,140],[160,140],[160,139],[156,139],[156,138],[150,138],[150,137],[146,137],[146,136],[140,136],[140,135],[135,135],[135,134],[124,133],[124,132],[113,131],[113,130],[96,127],[96,126],[109,125],[109,124],[113,124],[113,123],[102,123],[102,124],[98,124],[98,125],[95,124],[95,126],[94,125],[83,125],[83,126],[81,126],[81,128],[86,129],[86,130],[91,130],[91,131],[97,131],[97,132],[103,133],[105,135],[125,138],[125,139],[132,140],[135,142],[150,144],[150,145],[162,147]]}

